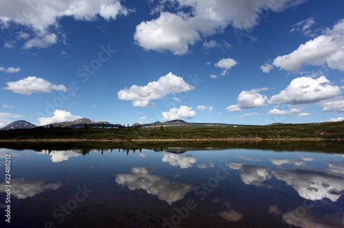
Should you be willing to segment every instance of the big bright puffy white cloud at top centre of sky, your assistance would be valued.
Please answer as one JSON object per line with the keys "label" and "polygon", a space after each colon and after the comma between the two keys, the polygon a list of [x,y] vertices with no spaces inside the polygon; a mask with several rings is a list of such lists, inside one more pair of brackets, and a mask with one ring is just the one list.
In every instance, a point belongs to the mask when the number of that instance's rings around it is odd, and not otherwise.
{"label": "big bright puffy white cloud at top centre of sky", "polygon": [[137,25],[134,39],[145,50],[187,54],[189,45],[200,41],[200,33],[214,32],[215,24],[208,23],[207,27],[203,26],[204,23],[199,17],[162,12],[158,19],[142,21]]}

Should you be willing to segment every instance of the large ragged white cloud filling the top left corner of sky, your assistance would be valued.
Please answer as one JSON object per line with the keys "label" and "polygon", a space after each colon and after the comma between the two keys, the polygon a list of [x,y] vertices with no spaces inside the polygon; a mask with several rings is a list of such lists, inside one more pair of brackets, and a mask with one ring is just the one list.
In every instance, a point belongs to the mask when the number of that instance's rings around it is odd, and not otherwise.
{"label": "large ragged white cloud filling the top left corner of sky", "polygon": [[[23,32],[16,34],[17,39],[27,40],[23,46],[24,49],[46,48],[58,41],[56,34],[61,33],[58,20],[62,17],[73,17],[84,21],[91,21],[97,17],[110,20],[116,19],[118,15],[126,16],[129,11],[120,4],[119,0],[56,0],[40,1],[39,5],[34,1],[1,1],[0,22],[5,27],[9,27],[10,23],[17,23],[31,30],[32,34],[26,33],[25,36]],[[56,32],[49,32],[54,29]],[[30,37],[33,38],[30,39]],[[10,44],[13,46],[12,43]]]}

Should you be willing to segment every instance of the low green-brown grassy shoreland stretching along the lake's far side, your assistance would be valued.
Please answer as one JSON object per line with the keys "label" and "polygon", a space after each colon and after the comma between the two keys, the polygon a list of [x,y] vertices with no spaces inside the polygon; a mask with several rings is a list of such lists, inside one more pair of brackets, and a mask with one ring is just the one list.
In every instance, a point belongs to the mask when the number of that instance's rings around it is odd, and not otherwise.
{"label": "low green-brown grassy shoreland stretching along the lake's far side", "polygon": [[[178,123],[179,125],[179,123]],[[154,127],[153,127],[154,126]],[[231,126],[231,127],[230,127]],[[236,126],[236,127],[235,127]],[[240,126],[160,123],[120,129],[36,127],[0,131],[0,139],[87,140],[344,140],[344,121],[329,123]]]}

